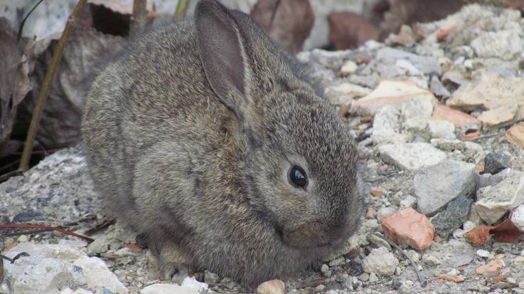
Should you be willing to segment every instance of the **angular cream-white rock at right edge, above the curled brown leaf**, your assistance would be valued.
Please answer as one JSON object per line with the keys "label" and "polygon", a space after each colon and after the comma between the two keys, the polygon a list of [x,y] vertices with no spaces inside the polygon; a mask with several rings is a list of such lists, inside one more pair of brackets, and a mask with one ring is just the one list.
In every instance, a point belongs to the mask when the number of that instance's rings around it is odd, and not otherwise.
{"label": "angular cream-white rock at right edge, above the curled brown leaf", "polygon": [[508,211],[524,204],[524,172],[512,172],[495,186],[478,189],[474,209],[488,224],[495,224]]}

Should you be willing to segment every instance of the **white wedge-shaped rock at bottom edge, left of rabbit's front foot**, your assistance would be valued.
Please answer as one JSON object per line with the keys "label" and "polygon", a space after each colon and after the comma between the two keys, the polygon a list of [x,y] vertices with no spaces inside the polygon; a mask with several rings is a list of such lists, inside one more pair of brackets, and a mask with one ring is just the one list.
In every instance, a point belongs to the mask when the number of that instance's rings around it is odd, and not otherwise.
{"label": "white wedge-shaped rock at bottom edge, left of rabbit's front foot", "polygon": [[73,266],[81,268],[81,273],[86,278],[88,288],[103,293],[103,289],[110,290],[111,293],[129,293],[123,283],[112,273],[106,263],[98,257],[81,256]]}

